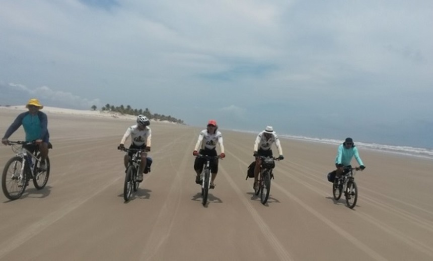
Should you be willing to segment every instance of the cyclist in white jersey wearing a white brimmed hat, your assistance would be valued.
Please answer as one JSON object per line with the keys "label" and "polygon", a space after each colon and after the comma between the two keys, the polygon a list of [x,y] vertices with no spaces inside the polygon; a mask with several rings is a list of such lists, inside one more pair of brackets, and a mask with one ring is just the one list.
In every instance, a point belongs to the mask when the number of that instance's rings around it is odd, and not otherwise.
{"label": "cyclist in white jersey wearing a white brimmed hat", "polygon": [[258,176],[260,173],[260,165],[262,164],[262,160],[257,156],[272,157],[271,146],[274,143],[278,149],[278,159],[283,160],[284,156],[282,156],[282,148],[278,136],[273,131],[272,126],[266,126],[265,130],[257,135],[256,142],[254,143],[253,155],[256,157],[256,166],[254,168],[254,189],[258,186]]}

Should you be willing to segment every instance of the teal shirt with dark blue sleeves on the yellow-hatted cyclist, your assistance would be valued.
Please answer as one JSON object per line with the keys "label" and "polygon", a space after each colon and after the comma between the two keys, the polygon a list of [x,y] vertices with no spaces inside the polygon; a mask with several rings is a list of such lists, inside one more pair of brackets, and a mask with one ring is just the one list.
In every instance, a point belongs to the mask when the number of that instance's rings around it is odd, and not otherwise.
{"label": "teal shirt with dark blue sleeves on the yellow-hatted cyclist", "polygon": [[26,133],[26,142],[34,140],[48,142],[48,118],[42,111],[38,111],[38,113],[34,115],[30,114],[28,111],[19,114],[11,126],[9,126],[4,138],[8,139],[11,137],[11,135],[17,131],[21,125],[23,125]]}

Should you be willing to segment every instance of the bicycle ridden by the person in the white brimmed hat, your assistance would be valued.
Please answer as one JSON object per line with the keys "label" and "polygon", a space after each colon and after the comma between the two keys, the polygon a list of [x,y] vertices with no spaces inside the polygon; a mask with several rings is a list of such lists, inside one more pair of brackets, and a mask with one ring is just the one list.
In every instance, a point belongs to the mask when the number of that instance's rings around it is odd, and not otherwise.
{"label": "bicycle ridden by the person in the white brimmed hat", "polygon": [[254,184],[254,194],[258,196],[260,194],[260,202],[262,204],[266,204],[269,198],[270,193],[270,185],[271,179],[273,179],[272,170],[275,168],[275,161],[278,161],[278,158],[274,157],[264,157],[264,156],[256,156],[262,160],[262,164],[260,166],[260,178],[259,178],[259,186],[257,187]]}

